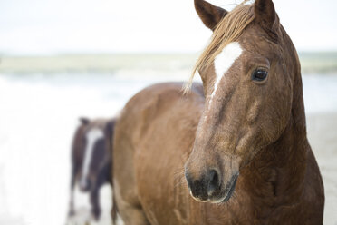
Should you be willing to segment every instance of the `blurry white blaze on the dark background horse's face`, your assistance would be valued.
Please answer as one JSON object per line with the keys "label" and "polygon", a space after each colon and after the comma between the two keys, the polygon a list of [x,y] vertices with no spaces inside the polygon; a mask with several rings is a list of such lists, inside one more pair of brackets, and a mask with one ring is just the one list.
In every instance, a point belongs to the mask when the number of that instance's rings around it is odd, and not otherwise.
{"label": "blurry white blaze on the dark background horse's face", "polygon": [[84,163],[82,166],[82,177],[81,177],[81,183],[83,183],[84,185],[86,182],[86,177],[89,172],[93,146],[95,142],[103,138],[103,136],[104,136],[103,132],[99,129],[92,129],[90,132],[87,132],[86,134],[87,146],[85,147]]}

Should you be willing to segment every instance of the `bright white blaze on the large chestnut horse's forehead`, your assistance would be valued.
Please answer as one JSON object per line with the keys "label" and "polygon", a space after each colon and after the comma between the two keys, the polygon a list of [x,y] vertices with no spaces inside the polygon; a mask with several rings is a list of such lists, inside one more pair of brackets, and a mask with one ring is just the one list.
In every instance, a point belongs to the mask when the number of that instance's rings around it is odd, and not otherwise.
{"label": "bright white blaze on the large chestnut horse's forehead", "polygon": [[222,77],[234,64],[236,59],[242,54],[242,48],[237,42],[227,44],[220,54],[217,55],[214,66],[216,69],[216,82],[214,83],[213,93],[209,102],[212,103],[212,99],[217,91],[217,86],[220,83]]}

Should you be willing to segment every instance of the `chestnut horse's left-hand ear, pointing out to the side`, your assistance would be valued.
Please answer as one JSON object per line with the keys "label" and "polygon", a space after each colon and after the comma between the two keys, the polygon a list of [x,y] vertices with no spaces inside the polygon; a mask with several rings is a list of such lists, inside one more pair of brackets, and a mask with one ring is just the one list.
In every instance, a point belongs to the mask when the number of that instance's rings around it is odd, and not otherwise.
{"label": "chestnut horse's left-hand ear, pointing out to the side", "polygon": [[194,6],[201,21],[212,31],[216,29],[217,24],[227,14],[225,9],[207,3],[204,0],[194,0]]}

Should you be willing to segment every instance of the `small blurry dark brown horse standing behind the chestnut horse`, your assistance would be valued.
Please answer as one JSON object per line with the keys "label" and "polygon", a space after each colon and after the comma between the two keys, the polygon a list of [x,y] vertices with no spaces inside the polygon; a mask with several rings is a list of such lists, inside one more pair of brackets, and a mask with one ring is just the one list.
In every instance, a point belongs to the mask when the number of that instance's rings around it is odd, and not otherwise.
{"label": "small blurry dark brown horse standing behind the chestnut horse", "polygon": [[[75,214],[73,191],[78,184],[80,191],[90,193],[91,216],[99,220],[101,205],[99,191],[111,182],[111,151],[115,119],[89,120],[81,118],[72,141],[72,180],[69,215]],[[112,212],[115,207],[112,206]]]}

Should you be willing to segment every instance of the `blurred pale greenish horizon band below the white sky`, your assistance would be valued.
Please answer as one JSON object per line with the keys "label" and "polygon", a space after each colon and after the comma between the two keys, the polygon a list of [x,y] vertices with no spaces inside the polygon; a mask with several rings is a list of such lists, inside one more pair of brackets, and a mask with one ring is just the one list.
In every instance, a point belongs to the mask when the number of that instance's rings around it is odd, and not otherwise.
{"label": "blurred pale greenish horizon band below the white sky", "polygon": [[[173,73],[188,75],[197,53],[116,53],[0,56],[0,73]],[[299,52],[302,73],[337,74],[337,51]],[[165,75],[164,74],[164,75]]]}

